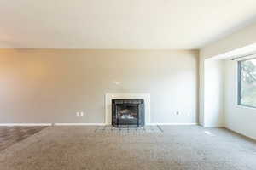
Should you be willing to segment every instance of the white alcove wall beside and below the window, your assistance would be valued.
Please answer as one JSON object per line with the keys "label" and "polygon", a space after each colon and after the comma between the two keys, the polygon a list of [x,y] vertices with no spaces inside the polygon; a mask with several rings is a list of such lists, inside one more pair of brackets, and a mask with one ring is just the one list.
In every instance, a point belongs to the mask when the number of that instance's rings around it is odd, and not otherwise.
{"label": "white alcove wall beside and below the window", "polygon": [[256,139],[256,110],[237,105],[237,62],[225,60],[225,117],[226,127]]}

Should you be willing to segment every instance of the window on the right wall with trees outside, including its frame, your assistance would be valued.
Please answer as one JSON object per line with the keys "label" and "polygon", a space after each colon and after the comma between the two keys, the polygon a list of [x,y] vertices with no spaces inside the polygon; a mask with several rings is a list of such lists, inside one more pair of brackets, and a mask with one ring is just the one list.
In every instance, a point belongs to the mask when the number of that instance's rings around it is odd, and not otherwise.
{"label": "window on the right wall with trees outside, including its frame", "polygon": [[256,108],[256,59],[238,61],[238,105]]}

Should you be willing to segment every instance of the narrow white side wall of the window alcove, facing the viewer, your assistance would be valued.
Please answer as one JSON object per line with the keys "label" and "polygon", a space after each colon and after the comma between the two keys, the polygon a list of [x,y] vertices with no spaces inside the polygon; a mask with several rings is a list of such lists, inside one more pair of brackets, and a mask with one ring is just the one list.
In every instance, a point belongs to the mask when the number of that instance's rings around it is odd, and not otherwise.
{"label": "narrow white side wall of the window alcove, facing the viewer", "polygon": [[204,127],[224,127],[224,61],[204,61]]}

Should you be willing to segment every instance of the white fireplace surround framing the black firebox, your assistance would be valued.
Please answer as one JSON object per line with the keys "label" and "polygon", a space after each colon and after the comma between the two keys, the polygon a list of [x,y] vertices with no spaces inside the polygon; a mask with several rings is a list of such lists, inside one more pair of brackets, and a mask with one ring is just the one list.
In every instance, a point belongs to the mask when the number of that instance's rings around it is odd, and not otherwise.
{"label": "white fireplace surround framing the black firebox", "polygon": [[148,93],[107,93],[105,94],[105,124],[111,125],[112,99],[144,99],[145,125],[150,124],[150,94]]}

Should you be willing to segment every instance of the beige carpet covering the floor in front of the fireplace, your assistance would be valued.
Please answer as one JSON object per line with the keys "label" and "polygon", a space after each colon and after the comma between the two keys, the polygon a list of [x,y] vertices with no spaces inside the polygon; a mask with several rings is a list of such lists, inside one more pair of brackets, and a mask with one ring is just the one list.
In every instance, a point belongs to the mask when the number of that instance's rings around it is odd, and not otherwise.
{"label": "beige carpet covering the floor in front of the fireplace", "polygon": [[224,128],[157,133],[47,127],[0,151],[1,170],[255,170],[256,142]]}

